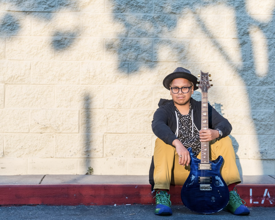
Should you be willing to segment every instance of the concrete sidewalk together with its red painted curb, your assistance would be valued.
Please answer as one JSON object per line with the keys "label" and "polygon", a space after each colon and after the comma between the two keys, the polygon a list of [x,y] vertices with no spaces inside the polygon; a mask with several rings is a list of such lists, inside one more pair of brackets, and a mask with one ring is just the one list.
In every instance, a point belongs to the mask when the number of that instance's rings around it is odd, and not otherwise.
{"label": "concrete sidewalk together with its red painted curb", "polygon": [[[238,193],[249,207],[275,206],[275,175],[242,176]],[[182,186],[171,186],[172,204],[182,204]],[[0,176],[0,205],[154,204],[149,177],[130,175]]]}

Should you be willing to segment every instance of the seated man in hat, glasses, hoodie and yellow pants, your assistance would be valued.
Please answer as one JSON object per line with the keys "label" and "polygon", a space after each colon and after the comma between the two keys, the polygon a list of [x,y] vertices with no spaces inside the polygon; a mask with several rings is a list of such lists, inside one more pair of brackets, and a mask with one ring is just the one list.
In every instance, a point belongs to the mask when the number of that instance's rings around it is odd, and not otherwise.
{"label": "seated man in hat, glasses, hoodie and yellow pants", "polygon": [[[156,215],[172,215],[170,184],[183,185],[190,172],[190,155],[200,159],[200,142],[210,142],[210,157],[224,158],[221,175],[226,182],[230,199],[225,211],[234,215],[247,215],[249,209],[237,194],[235,186],[241,182],[236,165],[232,141],[228,137],[232,126],[208,104],[208,130],[201,130],[201,102],[191,98],[197,78],[185,68],[178,67],[163,80],[172,100],[161,99],[156,110],[152,130],[158,137],[150,167],[149,179],[156,191]],[[210,152],[210,150],[209,150]],[[153,177],[152,177],[153,176]],[[244,202],[244,204],[243,204]]]}

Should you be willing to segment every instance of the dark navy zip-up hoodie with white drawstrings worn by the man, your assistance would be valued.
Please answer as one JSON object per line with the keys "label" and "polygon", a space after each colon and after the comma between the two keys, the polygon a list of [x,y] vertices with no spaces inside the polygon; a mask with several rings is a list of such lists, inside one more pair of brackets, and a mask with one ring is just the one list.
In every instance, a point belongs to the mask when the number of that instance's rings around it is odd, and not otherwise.
{"label": "dark navy zip-up hoodie with white drawstrings worn by the man", "polygon": [[[192,118],[195,127],[201,130],[201,109],[202,102],[196,101],[193,98],[190,100],[192,108]],[[164,143],[172,145],[172,142],[177,139],[177,114],[173,100],[160,99],[159,108],[156,110],[153,121],[152,130],[154,134]],[[219,129],[222,131],[222,138],[230,134],[232,126],[229,121],[222,117],[216,109],[208,103],[208,127],[210,129]]]}

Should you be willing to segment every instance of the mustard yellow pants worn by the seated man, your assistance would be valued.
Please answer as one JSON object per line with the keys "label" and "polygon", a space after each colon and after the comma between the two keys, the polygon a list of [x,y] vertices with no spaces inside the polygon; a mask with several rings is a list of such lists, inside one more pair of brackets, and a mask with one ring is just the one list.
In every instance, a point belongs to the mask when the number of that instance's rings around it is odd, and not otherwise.
{"label": "mustard yellow pants worn by the seated man", "polygon": [[[211,151],[210,151],[211,149]],[[200,153],[196,156],[200,159]],[[226,136],[209,144],[209,157],[215,160],[221,155],[224,162],[221,166],[221,175],[227,185],[240,183],[240,174],[236,165],[235,152],[231,139]],[[154,189],[168,189],[170,184],[183,185],[188,178],[190,166],[182,166],[178,163],[176,148],[165,144],[157,138],[154,150]]]}

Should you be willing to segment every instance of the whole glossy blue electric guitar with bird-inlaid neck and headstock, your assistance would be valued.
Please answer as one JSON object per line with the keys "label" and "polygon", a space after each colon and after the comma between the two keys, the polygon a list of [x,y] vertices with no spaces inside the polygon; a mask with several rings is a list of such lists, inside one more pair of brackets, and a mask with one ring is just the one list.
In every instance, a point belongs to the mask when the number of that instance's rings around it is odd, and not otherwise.
{"label": "whole glossy blue electric guitar with bird-inlaid neck and headstock", "polygon": [[[208,73],[200,71],[199,88],[202,90],[202,129],[208,129],[208,89],[211,88]],[[209,75],[211,76],[211,75]],[[229,201],[229,190],[222,179],[220,168],[222,156],[209,161],[208,142],[201,142],[201,160],[190,152],[190,174],[185,181],[181,198],[183,204],[191,211],[198,213],[214,213],[222,210]]]}

